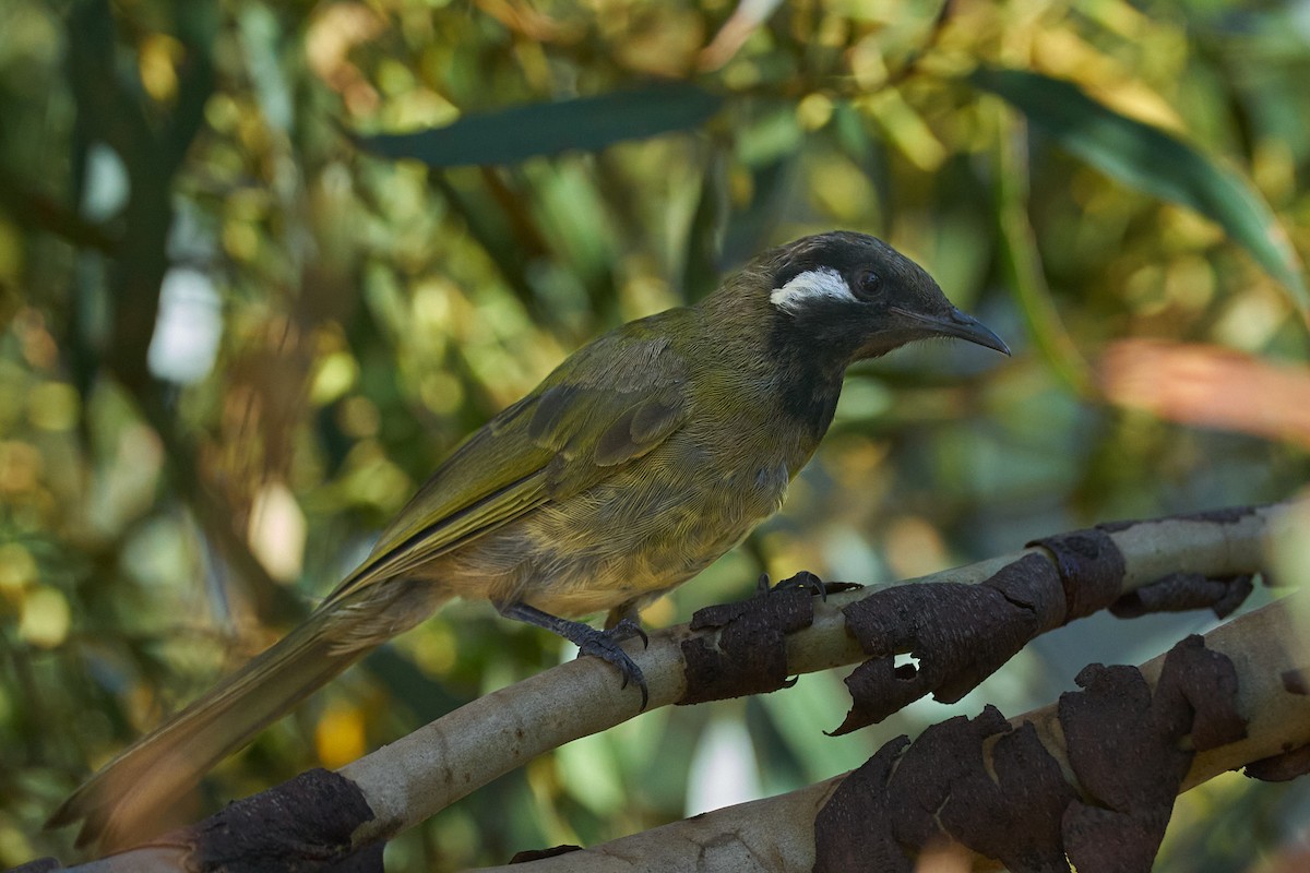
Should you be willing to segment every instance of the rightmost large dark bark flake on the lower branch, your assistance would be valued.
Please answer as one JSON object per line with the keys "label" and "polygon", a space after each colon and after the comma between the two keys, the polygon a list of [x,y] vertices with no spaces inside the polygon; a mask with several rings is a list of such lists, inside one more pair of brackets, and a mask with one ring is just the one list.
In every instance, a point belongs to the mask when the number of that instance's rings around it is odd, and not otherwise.
{"label": "rightmost large dark bark flake on the lower branch", "polygon": [[1060,696],[1069,763],[1089,802],[1064,814],[1064,843],[1079,873],[1150,870],[1196,747],[1244,736],[1237,671],[1199,636],[1165,658],[1154,694],[1136,668],[1094,664],[1083,691]]}

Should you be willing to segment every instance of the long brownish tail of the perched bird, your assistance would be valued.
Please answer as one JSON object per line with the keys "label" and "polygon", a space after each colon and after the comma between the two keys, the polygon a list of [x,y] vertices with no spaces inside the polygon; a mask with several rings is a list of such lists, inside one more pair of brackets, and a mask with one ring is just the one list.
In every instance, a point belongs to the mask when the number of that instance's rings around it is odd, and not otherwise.
{"label": "long brownish tail of the perched bird", "polygon": [[47,827],[84,819],[77,846],[113,849],[156,835],[164,810],[216,763],[381,643],[342,647],[325,633],[341,618],[320,610],[170,721],[101,768],[54,811]]}

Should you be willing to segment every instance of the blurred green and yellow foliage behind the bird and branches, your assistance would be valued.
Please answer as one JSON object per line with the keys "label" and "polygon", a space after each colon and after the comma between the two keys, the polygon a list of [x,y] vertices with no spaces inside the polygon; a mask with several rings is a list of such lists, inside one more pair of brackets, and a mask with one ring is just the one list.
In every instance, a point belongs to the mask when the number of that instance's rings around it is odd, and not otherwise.
{"label": "blurred green and yellow foliage behind the bird and branches", "polygon": [[[857,368],[785,513],[647,624],[761,571],[887,581],[1294,496],[1307,81],[1305,0],[5,0],[0,864],[75,857],[50,810],[303,615],[566,353],[806,233],[887,238],[1015,355],[930,343]],[[648,712],[402,835],[388,865],[503,863],[787,791],[1213,623],[1094,616],[958,705],[841,738],[821,730],[845,671]],[[571,656],[456,605],[179,814]],[[1254,869],[1303,838],[1305,781],[1191,792],[1158,869]]]}

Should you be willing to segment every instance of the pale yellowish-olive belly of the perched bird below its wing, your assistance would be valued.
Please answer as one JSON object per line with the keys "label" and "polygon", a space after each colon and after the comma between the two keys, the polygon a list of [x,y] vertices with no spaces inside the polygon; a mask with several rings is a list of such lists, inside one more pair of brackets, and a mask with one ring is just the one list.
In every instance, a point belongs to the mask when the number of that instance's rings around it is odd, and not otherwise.
{"label": "pale yellowish-olive belly of the perched bird below its wing", "polygon": [[[643,603],[692,579],[777,512],[785,465],[651,487],[639,470],[469,543],[443,561],[460,593],[579,616]],[[452,577],[453,576],[453,577]]]}

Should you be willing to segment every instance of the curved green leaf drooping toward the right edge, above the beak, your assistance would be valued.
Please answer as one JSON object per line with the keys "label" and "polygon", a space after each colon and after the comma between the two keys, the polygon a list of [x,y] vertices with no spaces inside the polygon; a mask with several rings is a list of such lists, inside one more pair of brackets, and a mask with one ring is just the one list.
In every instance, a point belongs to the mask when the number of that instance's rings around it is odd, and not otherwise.
{"label": "curved green leaf drooping toward the right edge, above the beak", "polygon": [[1218,223],[1310,310],[1303,270],[1286,233],[1242,177],[1187,143],[1094,101],[1077,85],[1019,69],[977,69],[971,80],[1005,98],[1087,164],[1146,194]]}

